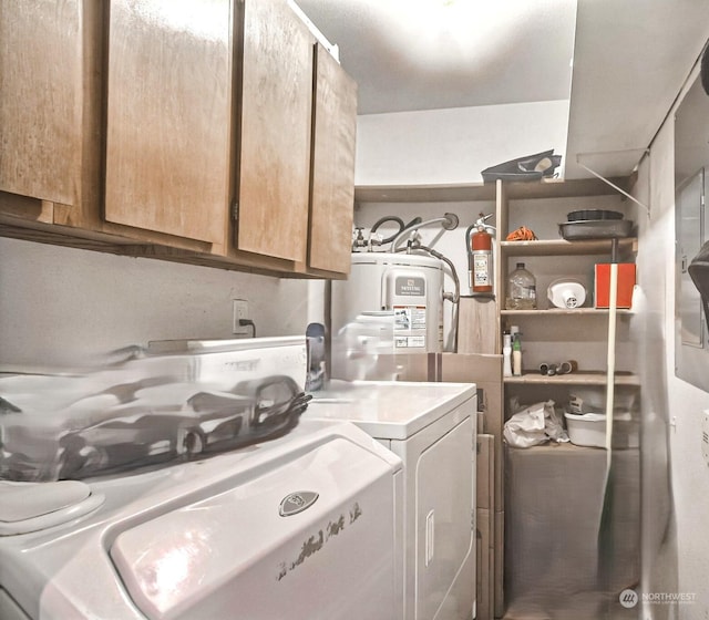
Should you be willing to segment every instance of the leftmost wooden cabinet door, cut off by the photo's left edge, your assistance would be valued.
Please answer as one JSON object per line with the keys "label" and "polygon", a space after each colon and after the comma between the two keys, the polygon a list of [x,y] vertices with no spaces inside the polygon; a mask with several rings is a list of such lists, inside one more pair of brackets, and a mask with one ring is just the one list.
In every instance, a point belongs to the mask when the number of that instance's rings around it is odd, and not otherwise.
{"label": "leftmost wooden cabinet door, cut off by the photo's left edge", "polygon": [[0,190],[75,204],[82,0],[0,6]]}

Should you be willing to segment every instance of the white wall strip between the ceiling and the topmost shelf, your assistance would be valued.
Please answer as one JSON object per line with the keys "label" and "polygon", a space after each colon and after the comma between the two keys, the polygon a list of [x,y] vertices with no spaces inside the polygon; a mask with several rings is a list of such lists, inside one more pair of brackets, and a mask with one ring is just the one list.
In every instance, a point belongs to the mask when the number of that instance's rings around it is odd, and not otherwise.
{"label": "white wall strip between the ceiling and the topmost shelf", "polygon": [[567,124],[568,101],[359,116],[354,183],[479,183],[481,170],[508,159],[563,155]]}

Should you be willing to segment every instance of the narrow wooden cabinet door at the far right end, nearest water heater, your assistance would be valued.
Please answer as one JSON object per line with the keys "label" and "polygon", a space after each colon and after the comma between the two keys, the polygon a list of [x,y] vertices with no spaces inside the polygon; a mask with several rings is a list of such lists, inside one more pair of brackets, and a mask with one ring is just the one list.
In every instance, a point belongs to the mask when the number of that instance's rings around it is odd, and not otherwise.
{"label": "narrow wooden cabinet door at the far right end, nearest water heater", "polygon": [[357,84],[319,44],[315,84],[308,266],[349,273]]}

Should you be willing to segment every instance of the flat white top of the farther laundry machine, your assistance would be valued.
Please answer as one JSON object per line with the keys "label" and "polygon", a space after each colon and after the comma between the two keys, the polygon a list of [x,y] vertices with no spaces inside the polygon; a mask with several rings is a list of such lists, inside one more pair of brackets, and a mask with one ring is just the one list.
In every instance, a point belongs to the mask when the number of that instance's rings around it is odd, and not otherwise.
{"label": "flat white top of the farther laundry machine", "polygon": [[405,440],[476,394],[473,383],[331,381],[307,415],[349,420],[372,437]]}

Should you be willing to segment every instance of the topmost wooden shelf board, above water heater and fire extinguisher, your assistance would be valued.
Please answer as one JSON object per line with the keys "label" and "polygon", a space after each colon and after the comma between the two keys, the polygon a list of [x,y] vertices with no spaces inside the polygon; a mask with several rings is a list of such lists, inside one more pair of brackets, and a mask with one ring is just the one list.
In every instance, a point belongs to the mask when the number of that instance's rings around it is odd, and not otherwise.
{"label": "topmost wooden shelf board, above water heater and fire extinguisher", "polygon": [[[612,178],[609,180],[624,190],[629,190],[629,177]],[[607,183],[596,178],[505,183],[504,187],[506,196],[510,199],[571,198],[576,196],[612,196],[617,194]],[[494,183],[358,185],[354,187],[354,200],[358,203],[458,203],[494,199]]]}

